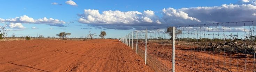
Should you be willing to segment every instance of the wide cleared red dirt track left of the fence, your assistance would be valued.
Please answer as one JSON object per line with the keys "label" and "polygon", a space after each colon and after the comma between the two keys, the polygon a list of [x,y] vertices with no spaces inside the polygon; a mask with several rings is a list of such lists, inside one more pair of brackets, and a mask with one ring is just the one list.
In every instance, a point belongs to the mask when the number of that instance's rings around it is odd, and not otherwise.
{"label": "wide cleared red dirt track left of the fence", "polygon": [[117,39],[0,42],[0,72],[153,72]]}

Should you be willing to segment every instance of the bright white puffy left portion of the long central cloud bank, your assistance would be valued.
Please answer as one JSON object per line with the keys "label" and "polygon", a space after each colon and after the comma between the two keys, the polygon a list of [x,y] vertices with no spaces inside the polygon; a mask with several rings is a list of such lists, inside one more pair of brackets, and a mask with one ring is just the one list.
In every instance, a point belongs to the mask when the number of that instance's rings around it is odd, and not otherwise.
{"label": "bright white puffy left portion of the long central cloud bank", "polygon": [[79,23],[84,24],[101,24],[101,25],[135,25],[153,23],[156,18],[153,11],[103,11],[100,14],[99,10],[85,9],[84,14],[79,15]]}

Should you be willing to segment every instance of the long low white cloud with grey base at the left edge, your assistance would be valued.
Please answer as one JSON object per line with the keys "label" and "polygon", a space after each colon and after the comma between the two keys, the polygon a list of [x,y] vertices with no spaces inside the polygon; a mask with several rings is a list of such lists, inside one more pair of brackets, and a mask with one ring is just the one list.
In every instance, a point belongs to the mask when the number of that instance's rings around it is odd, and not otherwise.
{"label": "long low white cloud with grey base at the left edge", "polygon": [[15,18],[9,18],[9,19],[2,19],[0,18],[0,22],[9,22],[9,23],[25,23],[25,24],[46,24],[50,26],[60,26],[64,27],[63,24],[65,24],[65,21],[59,20],[59,19],[53,19],[53,18],[39,18],[39,19],[33,19],[31,17],[28,17],[26,15],[15,17]]}

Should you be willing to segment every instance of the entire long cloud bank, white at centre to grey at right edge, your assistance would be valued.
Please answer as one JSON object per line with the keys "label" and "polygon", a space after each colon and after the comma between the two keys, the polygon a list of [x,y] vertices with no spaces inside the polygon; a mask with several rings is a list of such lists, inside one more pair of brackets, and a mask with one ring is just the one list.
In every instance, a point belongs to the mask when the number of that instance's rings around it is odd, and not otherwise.
{"label": "entire long cloud bank, white at centre to grey at right edge", "polygon": [[103,11],[85,9],[78,14],[79,23],[107,29],[145,29],[168,26],[184,26],[209,23],[252,21],[256,16],[255,0],[241,0],[238,4],[223,4],[212,7],[164,8],[162,17],[154,11]]}

